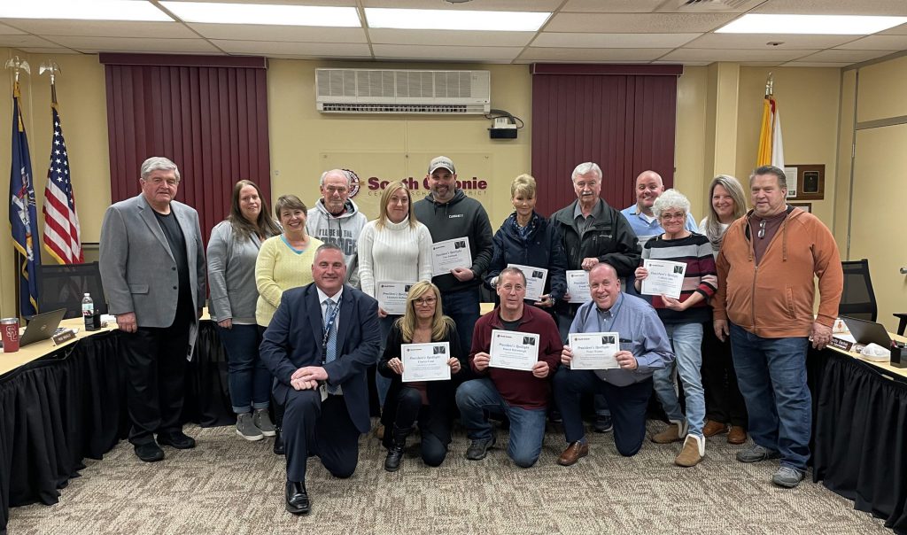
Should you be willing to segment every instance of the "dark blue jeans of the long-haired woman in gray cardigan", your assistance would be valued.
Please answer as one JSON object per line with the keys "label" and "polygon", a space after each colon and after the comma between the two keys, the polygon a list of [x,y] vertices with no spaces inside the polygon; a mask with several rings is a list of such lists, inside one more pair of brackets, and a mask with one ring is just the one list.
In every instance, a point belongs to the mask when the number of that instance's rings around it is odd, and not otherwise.
{"label": "dark blue jeans of the long-haired woman in gray cardigan", "polygon": [[229,397],[233,412],[267,409],[271,399],[271,375],[258,356],[261,335],[258,326],[218,326],[220,343],[227,352]]}

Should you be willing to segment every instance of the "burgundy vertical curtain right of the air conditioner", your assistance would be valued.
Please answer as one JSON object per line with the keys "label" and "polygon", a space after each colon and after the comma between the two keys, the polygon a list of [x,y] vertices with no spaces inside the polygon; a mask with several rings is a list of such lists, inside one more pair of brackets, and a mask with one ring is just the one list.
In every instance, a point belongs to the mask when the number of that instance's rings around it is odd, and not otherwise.
{"label": "burgundy vertical curtain right of the air conditioner", "polygon": [[633,180],[655,170],[674,183],[679,65],[532,65],[532,175],[538,210],[576,199],[571,172],[599,164],[601,196],[614,208],[635,202]]}

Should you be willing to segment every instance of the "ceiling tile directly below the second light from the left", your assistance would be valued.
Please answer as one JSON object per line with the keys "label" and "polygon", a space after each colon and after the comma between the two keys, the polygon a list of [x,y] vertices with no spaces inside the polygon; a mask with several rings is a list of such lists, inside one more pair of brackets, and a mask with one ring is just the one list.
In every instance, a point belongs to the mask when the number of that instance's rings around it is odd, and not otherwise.
{"label": "ceiling tile directly below the second light from the left", "polygon": [[291,41],[295,43],[366,43],[362,28],[278,26],[268,24],[188,24],[208,39],[228,41]]}

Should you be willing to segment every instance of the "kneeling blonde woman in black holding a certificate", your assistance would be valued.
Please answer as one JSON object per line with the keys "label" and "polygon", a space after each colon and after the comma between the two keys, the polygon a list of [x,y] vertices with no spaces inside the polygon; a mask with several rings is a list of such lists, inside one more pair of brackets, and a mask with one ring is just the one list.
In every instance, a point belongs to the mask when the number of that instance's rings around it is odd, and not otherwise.
{"label": "kneeling blonde woman in black holding a certificate", "polygon": [[453,412],[453,378],[447,381],[403,383],[404,365],[401,345],[446,342],[447,365],[451,375],[463,369],[464,357],[453,319],[441,310],[441,291],[431,282],[421,281],[409,289],[406,312],[394,322],[387,336],[384,355],[378,362],[378,373],[391,380],[381,422],[385,424],[387,448],[385,470],[395,472],[403,461],[406,437],[414,423],[422,434],[422,460],[439,466],[447,456],[451,442]]}

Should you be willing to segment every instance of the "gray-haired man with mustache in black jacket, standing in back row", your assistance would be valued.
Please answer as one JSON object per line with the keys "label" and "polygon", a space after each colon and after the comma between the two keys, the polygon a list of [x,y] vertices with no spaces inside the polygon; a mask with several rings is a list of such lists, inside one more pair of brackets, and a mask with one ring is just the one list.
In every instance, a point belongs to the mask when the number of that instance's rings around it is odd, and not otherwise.
{"label": "gray-haired man with mustache in black jacket, standing in back row", "polygon": [[[601,168],[591,161],[580,163],[571,175],[576,200],[551,215],[551,223],[563,237],[567,269],[589,271],[600,262],[610,264],[621,278],[639,268],[639,239],[620,212],[600,198]],[[561,299],[557,305],[558,328],[567,339],[578,304]],[[610,412],[603,398],[595,403],[595,431],[611,429]]]}

